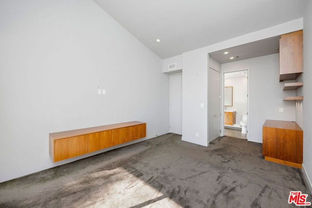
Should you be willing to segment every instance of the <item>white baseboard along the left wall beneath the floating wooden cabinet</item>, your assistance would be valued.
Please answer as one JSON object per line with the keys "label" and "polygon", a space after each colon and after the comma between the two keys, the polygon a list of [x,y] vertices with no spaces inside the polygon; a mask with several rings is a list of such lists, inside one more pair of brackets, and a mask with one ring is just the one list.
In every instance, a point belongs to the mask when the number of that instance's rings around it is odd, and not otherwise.
{"label": "white baseboard along the left wall beneath the floating wooden cabinet", "polygon": [[[86,157],[90,157],[90,156],[93,156],[93,155],[96,155],[96,154],[99,154],[99,153],[102,153],[102,152],[105,152],[105,151],[110,151],[110,150],[114,150],[114,149],[117,149],[117,148],[121,148],[121,147],[125,147],[125,146],[128,146],[128,145],[132,145],[132,144],[135,144],[135,143],[138,143],[138,142],[142,142],[142,141],[145,141],[145,140],[148,140],[148,139],[155,138],[156,136],[167,134],[167,133],[169,133],[169,132],[154,133],[152,135],[148,135],[148,136],[146,136],[144,138],[137,139],[137,140],[134,140],[134,141],[131,141],[131,142],[128,142],[128,143],[124,143],[124,144],[120,144],[120,145],[117,145],[117,146],[114,146],[114,147],[106,148],[104,150],[94,151],[94,152],[91,152],[91,153],[88,153],[88,154],[84,154],[84,155],[80,155],[80,156],[77,156],[77,157],[69,158],[67,160],[62,160],[62,161],[59,161],[59,162],[56,162],[56,163],[53,163],[52,159],[51,159],[51,162],[49,162],[49,163],[40,164],[40,165],[31,167],[31,168],[28,168],[28,169],[18,170],[18,171],[14,171],[14,172],[10,172],[10,173],[6,173],[6,174],[3,174],[3,175],[0,175],[0,183],[5,182],[5,181],[9,181],[9,180],[13,180],[13,179],[16,179],[16,178],[20,178],[20,177],[23,177],[23,176],[26,176],[26,175],[30,175],[30,174],[33,174],[33,173],[36,173],[36,172],[39,172],[39,171],[42,171],[42,170],[47,170],[47,169],[54,168],[54,167],[57,167],[57,166],[60,166],[60,165],[71,163],[71,162],[74,162],[76,160],[80,160],[80,159],[83,159],[83,158],[86,158]],[[48,154],[49,154],[49,152],[48,152]]]}

